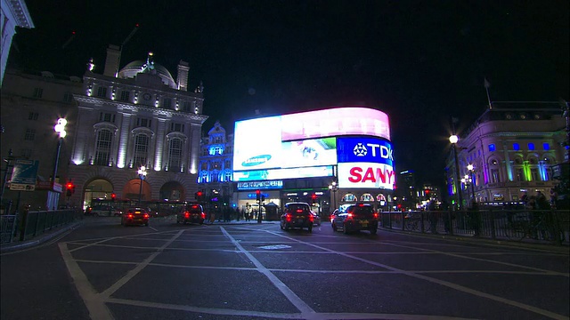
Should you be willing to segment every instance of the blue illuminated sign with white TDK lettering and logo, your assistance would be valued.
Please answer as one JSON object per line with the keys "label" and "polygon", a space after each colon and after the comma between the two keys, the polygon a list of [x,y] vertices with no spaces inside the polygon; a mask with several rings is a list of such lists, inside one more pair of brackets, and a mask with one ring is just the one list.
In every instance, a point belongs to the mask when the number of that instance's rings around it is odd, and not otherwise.
{"label": "blue illuminated sign with white TDK lettering and logo", "polygon": [[392,143],[387,140],[362,138],[337,138],[338,163],[368,162],[394,165]]}

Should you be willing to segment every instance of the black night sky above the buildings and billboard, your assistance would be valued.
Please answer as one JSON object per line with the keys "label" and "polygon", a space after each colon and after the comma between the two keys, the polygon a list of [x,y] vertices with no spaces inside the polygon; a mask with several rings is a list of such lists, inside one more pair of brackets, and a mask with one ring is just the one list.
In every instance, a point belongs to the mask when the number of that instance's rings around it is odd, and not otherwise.
{"label": "black night sky above the buildings and billboard", "polygon": [[[26,0],[36,28],[18,29],[10,63],[82,76],[108,44],[121,67],[155,53],[189,86],[205,86],[216,120],[348,104],[391,118],[396,171],[440,184],[450,118],[459,131],[492,100],[569,97],[567,0],[45,1]],[[72,31],[76,35],[71,38]]]}

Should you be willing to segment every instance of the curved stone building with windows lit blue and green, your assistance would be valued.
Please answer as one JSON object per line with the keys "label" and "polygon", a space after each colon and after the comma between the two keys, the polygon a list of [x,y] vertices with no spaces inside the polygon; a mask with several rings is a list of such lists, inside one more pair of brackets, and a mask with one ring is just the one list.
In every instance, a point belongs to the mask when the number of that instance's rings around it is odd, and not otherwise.
{"label": "curved stone building with windows lit blue and green", "polygon": [[553,167],[565,161],[565,124],[558,102],[493,102],[460,134],[457,163],[453,151],[448,157],[448,192],[456,207],[459,199],[467,206],[474,199],[517,204],[537,191],[548,197],[558,183]]}

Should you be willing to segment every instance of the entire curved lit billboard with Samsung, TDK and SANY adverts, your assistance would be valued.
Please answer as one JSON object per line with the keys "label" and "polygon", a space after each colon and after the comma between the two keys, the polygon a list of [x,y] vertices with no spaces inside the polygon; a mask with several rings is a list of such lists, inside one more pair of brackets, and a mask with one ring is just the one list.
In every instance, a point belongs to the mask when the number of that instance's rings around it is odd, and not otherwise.
{"label": "entire curved lit billboard with Samsung, TDK and SANY adverts", "polygon": [[386,113],[372,108],[329,108],[235,123],[233,180],[330,177],[339,188],[395,184]]}

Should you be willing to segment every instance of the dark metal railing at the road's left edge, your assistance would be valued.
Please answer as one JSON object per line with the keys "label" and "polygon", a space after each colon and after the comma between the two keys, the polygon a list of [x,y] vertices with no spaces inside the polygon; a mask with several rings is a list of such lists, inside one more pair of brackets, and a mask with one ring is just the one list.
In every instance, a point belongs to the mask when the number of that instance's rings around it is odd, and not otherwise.
{"label": "dark metal railing at the road's left edge", "polygon": [[21,212],[0,216],[0,243],[25,241],[50,230],[61,228],[80,215],[75,210]]}

